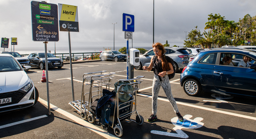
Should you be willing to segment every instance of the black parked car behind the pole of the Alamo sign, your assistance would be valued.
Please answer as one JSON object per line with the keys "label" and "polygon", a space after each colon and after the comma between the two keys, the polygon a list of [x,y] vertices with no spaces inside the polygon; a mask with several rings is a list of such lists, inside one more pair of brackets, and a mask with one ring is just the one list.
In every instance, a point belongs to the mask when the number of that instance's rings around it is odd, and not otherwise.
{"label": "black parked car behind the pole of the Alamo sign", "polygon": [[[41,70],[45,69],[45,53],[31,53],[28,55],[31,66],[39,67]],[[47,53],[48,68],[63,66],[63,60],[56,58],[52,53]]]}

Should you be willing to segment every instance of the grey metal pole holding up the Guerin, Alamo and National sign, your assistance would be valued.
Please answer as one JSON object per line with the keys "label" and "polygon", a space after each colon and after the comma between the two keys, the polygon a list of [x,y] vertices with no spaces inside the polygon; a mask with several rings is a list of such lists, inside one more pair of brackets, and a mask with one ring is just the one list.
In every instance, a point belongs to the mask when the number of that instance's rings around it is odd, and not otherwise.
{"label": "grey metal pole holding up the Guerin, Alamo and National sign", "polygon": [[[51,115],[51,108],[50,108],[50,92],[49,92],[49,78],[48,78],[48,59],[47,59],[47,43],[44,43],[44,57],[45,57],[45,77],[46,77],[46,88],[47,88],[47,102],[48,102],[48,114]],[[14,50],[14,49],[13,49]]]}

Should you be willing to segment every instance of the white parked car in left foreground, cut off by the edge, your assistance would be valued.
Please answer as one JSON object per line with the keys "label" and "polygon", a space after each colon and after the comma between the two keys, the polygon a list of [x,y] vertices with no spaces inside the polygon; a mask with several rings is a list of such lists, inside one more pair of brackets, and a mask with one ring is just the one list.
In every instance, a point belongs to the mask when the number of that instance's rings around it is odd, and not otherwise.
{"label": "white parked car in left foreground, cut off by the edge", "polygon": [[[29,69],[30,66],[24,66]],[[36,104],[38,91],[19,62],[9,54],[0,54],[0,112]]]}

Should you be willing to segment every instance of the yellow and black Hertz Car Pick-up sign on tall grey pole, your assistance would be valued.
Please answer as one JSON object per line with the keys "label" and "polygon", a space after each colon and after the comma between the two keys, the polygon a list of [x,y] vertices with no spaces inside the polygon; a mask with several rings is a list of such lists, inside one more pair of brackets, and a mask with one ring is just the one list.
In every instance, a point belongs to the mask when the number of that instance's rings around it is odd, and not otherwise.
{"label": "yellow and black Hertz Car Pick-up sign on tall grey pole", "polygon": [[69,62],[70,62],[70,74],[71,74],[72,98],[73,98],[73,101],[75,101],[70,31],[71,32],[79,32],[77,6],[67,5],[67,4],[59,4],[59,18],[60,18],[60,20],[59,20],[60,31],[68,31],[68,46],[69,46]]}

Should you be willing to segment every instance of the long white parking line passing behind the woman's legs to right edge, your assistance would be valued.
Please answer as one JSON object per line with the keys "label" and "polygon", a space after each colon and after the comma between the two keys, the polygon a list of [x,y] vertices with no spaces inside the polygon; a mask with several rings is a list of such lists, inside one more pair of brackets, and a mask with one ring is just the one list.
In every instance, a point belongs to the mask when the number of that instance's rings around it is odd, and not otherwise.
{"label": "long white parking line passing behind the woman's legs to right edge", "polygon": [[[142,90],[142,89],[140,89],[140,90]],[[139,91],[140,91],[140,90],[139,90]],[[152,98],[152,96],[148,96],[148,95],[144,95],[144,94],[137,94],[137,96]],[[162,100],[162,101],[169,102],[168,99],[159,98],[159,97],[158,97],[157,99],[158,99],[158,100]],[[198,108],[198,109],[207,110],[207,111],[219,112],[219,113],[228,114],[228,115],[232,115],[232,116],[236,116],[236,117],[242,117],[242,118],[247,118],[247,119],[256,120],[256,117],[252,117],[252,116],[247,116],[247,115],[242,115],[242,114],[237,114],[237,113],[232,113],[232,112],[220,111],[220,110],[216,110],[216,109],[212,109],[212,108],[206,108],[206,107],[202,107],[202,106],[187,104],[187,103],[183,103],[183,102],[179,102],[179,101],[176,101],[176,103],[177,103],[177,104],[181,104],[181,105],[185,105],[185,106],[189,106],[189,107],[194,107],[194,108]]]}

